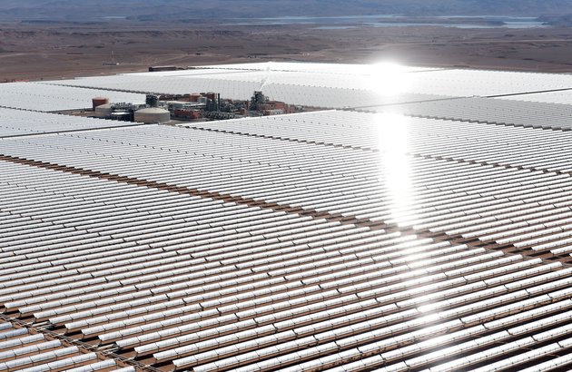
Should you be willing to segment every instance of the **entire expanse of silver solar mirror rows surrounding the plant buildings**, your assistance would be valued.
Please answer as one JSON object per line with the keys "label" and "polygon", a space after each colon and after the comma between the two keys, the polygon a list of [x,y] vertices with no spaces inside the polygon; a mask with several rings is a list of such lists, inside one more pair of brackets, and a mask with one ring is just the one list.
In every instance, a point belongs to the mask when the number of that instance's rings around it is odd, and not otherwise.
{"label": "entire expanse of silver solar mirror rows surrounding the plant buildings", "polygon": [[306,85],[284,99],[346,108],[176,126],[0,110],[0,371],[567,370],[570,109],[510,98],[572,81],[403,74],[435,92]]}

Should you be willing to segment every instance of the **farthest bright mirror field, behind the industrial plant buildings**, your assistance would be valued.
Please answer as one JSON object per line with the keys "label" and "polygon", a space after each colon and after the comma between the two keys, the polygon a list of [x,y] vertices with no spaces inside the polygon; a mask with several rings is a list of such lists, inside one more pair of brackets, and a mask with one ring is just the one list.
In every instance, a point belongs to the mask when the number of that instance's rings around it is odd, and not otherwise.
{"label": "farthest bright mirror field, behind the industrial plant buildings", "polygon": [[[319,66],[322,66],[320,71]],[[307,66],[307,67],[305,67]],[[451,97],[490,97],[572,88],[572,75],[406,68],[392,65],[239,64],[164,73],[126,73],[45,84],[136,93],[196,93],[245,100],[264,88],[273,100],[325,108],[424,102]],[[336,89],[333,89],[336,88]],[[303,98],[307,100],[303,102]]]}

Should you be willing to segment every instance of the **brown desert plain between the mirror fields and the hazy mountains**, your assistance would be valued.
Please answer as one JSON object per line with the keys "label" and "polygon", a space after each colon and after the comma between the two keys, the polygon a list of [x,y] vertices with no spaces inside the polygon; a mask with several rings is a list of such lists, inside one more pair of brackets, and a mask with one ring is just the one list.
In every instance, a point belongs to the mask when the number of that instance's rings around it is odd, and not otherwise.
{"label": "brown desert plain between the mirror fields and the hazy mountains", "polygon": [[[264,61],[572,72],[572,28],[312,25],[0,24],[0,82]],[[114,64],[112,64],[112,62]]]}

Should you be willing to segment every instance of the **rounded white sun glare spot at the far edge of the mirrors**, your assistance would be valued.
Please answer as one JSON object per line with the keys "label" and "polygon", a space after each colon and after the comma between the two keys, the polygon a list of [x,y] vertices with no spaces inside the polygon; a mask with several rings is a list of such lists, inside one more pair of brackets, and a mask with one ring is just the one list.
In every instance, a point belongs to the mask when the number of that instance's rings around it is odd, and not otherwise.
{"label": "rounded white sun glare spot at the far edge of the mirrors", "polygon": [[365,88],[383,96],[407,92],[411,78],[408,71],[406,67],[391,62],[371,64]]}

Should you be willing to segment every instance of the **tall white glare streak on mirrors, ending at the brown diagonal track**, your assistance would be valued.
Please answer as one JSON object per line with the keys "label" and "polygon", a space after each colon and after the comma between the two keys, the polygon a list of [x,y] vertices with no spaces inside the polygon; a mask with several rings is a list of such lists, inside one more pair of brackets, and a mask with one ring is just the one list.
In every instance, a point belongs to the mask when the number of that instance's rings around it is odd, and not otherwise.
{"label": "tall white glare streak on mirrors, ending at the brown diagonal track", "polygon": [[380,149],[380,181],[390,204],[391,219],[398,225],[415,218],[414,189],[409,152],[409,118],[399,114],[379,114],[375,128]]}

